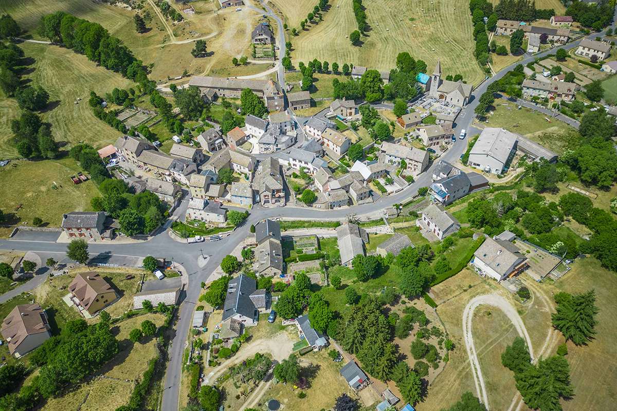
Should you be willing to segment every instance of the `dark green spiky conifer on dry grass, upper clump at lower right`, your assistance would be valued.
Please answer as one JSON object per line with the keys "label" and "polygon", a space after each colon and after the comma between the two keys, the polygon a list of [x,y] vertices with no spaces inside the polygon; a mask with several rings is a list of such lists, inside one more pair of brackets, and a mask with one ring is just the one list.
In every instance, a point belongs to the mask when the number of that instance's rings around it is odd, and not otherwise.
{"label": "dark green spiky conifer on dry grass, upper clump at lower right", "polygon": [[598,324],[595,315],[595,290],[584,294],[574,294],[570,301],[557,306],[551,314],[553,327],[563,333],[566,341],[572,340],[576,345],[587,344],[595,334],[594,327]]}

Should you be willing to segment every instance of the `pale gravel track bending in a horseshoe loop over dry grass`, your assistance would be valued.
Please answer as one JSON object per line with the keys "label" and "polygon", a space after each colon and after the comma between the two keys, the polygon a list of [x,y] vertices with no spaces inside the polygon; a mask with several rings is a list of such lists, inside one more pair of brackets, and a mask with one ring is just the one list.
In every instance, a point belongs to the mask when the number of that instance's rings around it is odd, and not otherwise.
{"label": "pale gravel track bending in a horseshoe loop over dry grass", "polygon": [[507,315],[508,319],[512,322],[516,331],[527,341],[529,347],[529,354],[534,358],[533,348],[531,346],[531,339],[527,333],[527,329],[521,320],[520,315],[511,306],[507,299],[497,294],[479,295],[467,304],[465,311],[463,312],[463,338],[465,339],[465,346],[467,348],[467,355],[469,356],[471,364],[471,372],[473,373],[473,379],[476,383],[476,392],[478,398],[486,405],[486,409],[489,409],[489,400],[486,394],[486,386],[484,385],[484,378],[482,377],[482,370],[480,368],[480,362],[478,360],[478,354],[476,354],[476,346],[474,345],[473,335],[471,334],[471,320],[473,319],[473,312],[475,309],[482,305],[489,305],[499,308],[503,311],[503,314]]}

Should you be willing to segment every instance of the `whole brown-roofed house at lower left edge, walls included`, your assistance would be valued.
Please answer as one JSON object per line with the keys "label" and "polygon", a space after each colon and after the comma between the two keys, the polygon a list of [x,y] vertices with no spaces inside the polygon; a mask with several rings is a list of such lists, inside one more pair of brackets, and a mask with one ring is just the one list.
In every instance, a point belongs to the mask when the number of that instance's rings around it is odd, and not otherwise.
{"label": "whole brown-roofed house at lower left edge, walls included", "polygon": [[47,314],[38,303],[15,306],[2,322],[0,333],[15,358],[28,354],[51,338]]}

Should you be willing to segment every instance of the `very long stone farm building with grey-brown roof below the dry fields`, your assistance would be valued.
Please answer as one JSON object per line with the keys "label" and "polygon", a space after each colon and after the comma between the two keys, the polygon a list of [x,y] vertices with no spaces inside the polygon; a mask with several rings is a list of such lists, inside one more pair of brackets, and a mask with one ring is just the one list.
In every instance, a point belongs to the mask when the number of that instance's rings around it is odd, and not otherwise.
{"label": "very long stone farm building with grey-brown roof below the dry fields", "polygon": [[273,79],[254,80],[232,77],[193,76],[189,81],[189,86],[199,87],[202,95],[209,92],[209,89],[212,89],[218,96],[231,99],[239,99],[242,90],[248,88],[264,100],[269,112],[280,112],[285,108],[283,90]]}

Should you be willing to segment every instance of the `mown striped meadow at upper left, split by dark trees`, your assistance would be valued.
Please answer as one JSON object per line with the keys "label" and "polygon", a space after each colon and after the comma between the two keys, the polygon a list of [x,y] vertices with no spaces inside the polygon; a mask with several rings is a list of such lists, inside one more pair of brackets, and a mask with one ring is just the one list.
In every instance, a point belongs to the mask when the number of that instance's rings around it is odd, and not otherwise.
{"label": "mown striped meadow at upper left, split by dark trees", "polygon": [[[104,96],[114,87],[128,89],[135,86],[132,80],[98,67],[85,55],[69,49],[35,43],[19,46],[27,58],[33,59],[30,65],[33,70],[22,78],[31,80],[31,85],[43,86],[49,93],[50,109],[41,116],[52,124],[56,141],[69,145],[85,142],[100,149],[122,136],[122,133],[94,117],[88,105],[88,96],[90,91]],[[73,104],[77,97],[82,99],[80,104]],[[14,99],[0,99],[0,158],[18,157],[10,131],[10,120],[18,116],[19,108]],[[63,150],[68,148],[64,147]]]}

